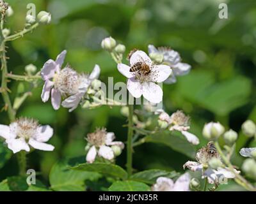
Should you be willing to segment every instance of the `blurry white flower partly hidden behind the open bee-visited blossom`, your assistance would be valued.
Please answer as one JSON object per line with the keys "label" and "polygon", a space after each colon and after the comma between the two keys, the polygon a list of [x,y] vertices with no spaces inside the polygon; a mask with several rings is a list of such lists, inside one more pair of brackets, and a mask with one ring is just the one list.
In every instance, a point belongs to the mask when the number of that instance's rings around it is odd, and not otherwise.
{"label": "blurry white flower partly hidden behind the open bee-visited blossom", "polygon": [[[168,64],[172,68],[172,75],[164,81],[166,84],[173,84],[176,82],[176,76],[187,75],[191,69],[191,66],[186,63],[182,63],[181,57],[178,52],[171,48],[159,47],[154,45],[148,45],[148,53],[151,56],[157,57],[156,62],[161,64]],[[163,57],[161,57],[161,55]],[[159,59],[162,59],[160,62]]]}

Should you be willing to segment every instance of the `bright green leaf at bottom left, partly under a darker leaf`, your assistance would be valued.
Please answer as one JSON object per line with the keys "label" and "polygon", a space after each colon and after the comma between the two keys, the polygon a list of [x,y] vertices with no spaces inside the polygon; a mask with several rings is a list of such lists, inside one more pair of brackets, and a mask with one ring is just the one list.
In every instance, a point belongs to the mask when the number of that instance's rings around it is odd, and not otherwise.
{"label": "bright green leaf at bottom left, partly under a darker leaf", "polygon": [[99,173],[75,171],[68,168],[67,161],[59,161],[50,173],[51,189],[54,191],[84,191],[84,180],[97,180]]}

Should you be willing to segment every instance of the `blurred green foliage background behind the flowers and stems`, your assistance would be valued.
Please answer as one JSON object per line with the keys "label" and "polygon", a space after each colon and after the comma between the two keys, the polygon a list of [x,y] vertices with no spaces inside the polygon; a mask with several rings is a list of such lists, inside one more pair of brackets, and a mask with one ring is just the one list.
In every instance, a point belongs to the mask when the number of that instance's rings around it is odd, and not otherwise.
{"label": "blurred green foliage background behind the flowers and stems", "polygon": [[[100,48],[103,38],[113,36],[127,47],[127,52],[132,48],[147,52],[148,44],[169,46],[180,52],[183,62],[191,64],[192,69],[189,75],[179,77],[176,84],[164,85],[164,108],[168,113],[181,109],[191,116],[191,132],[201,141],[197,149],[207,143],[201,134],[205,122],[218,120],[226,128],[240,132],[244,120],[256,121],[255,0],[10,0],[8,3],[14,15],[6,20],[6,27],[12,33],[23,29],[28,3],[35,3],[36,13],[47,10],[52,14],[50,25],[42,25],[24,38],[8,43],[8,68],[15,74],[23,74],[24,66],[30,63],[40,69],[47,59],[55,59],[66,49],[65,63],[77,71],[89,72],[94,64],[99,64],[100,80],[108,82],[108,77],[114,77],[115,82],[125,82],[115,62]],[[218,18],[220,3],[228,4],[228,19]],[[8,85],[14,99],[17,83]],[[106,126],[118,140],[125,141],[127,133],[122,125],[127,121],[120,108],[54,111],[50,102],[42,103],[41,91],[42,85],[33,90],[33,96],[22,105],[18,115],[35,117],[41,124],[54,128],[50,140],[56,147],[54,152],[35,151],[28,160],[29,168],[40,171],[46,184],[52,164],[58,159],[85,156],[84,136],[96,127]],[[0,105],[4,105],[2,99]],[[8,123],[6,113],[1,112],[0,124]],[[253,145],[256,143],[239,133],[237,150]],[[138,171],[161,168],[182,172],[182,164],[193,160],[156,143],[146,143],[134,150],[134,169]],[[125,167],[125,161],[124,151],[116,163]],[[240,156],[234,157],[235,164],[240,165],[241,161]],[[0,168],[0,180],[17,173],[15,157]]]}

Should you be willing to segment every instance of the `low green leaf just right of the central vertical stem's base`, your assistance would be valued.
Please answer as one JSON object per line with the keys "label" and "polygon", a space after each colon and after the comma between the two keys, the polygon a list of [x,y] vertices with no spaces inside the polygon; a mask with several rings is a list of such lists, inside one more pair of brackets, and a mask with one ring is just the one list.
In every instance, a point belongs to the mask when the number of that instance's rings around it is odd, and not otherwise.
{"label": "low green leaf just right of the central vertical stem's base", "polygon": [[173,179],[174,177],[178,177],[178,176],[179,176],[179,173],[175,171],[146,170],[146,171],[134,173],[134,175],[132,175],[130,179],[152,185],[156,183],[156,180],[158,177],[168,177]]}

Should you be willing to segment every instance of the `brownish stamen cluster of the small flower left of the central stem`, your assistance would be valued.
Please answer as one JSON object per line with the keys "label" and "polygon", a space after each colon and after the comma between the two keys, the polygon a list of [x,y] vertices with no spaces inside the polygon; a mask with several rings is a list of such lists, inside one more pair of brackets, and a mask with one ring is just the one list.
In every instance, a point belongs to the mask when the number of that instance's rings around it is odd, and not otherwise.
{"label": "brownish stamen cluster of the small flower left of the central stem", "polygon": [[100,147],[101,145],[105,145],[106,143],[106,129],[97,129],[94,133],[89,133],[87,135],[87,141],[91,145],[95,145],[96,147]]}

